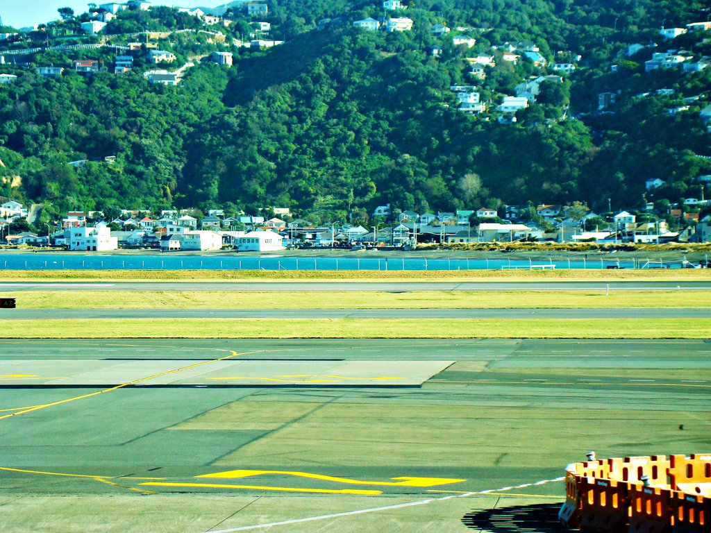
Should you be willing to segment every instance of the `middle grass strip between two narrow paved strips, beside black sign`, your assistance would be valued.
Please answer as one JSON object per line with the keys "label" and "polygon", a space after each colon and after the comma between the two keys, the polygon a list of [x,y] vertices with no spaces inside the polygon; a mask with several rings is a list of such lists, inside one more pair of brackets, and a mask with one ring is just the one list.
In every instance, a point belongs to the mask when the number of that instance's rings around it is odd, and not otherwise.
{"label": "middle grass strip between two narrow paved strips, beside black sign", "polygon": [[705,308],[711,291],[10,291],[25,309]]}

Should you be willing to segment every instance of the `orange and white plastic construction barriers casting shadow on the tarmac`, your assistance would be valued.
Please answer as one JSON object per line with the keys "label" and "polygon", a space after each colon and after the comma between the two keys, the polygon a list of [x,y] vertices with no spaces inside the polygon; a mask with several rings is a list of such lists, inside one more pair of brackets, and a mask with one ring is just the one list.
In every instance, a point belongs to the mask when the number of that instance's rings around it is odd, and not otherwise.
{"label": "orange and white plastic construction barriers casting shadow on the tarmac", "polygon": [[565,472],[560,522],[582,531],[708,533],[711,454],[573,463]]}

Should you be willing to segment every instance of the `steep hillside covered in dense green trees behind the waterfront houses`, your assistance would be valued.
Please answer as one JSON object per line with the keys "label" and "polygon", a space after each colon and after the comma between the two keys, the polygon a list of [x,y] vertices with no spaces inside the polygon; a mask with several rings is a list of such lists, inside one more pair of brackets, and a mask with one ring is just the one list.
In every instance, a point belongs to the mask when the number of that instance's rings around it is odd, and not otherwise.
{"label": "steep hillside covered in dense green trees behind the waterfront houses", "polygon": [[[699,116],[711,99],[711,68],[645,72],[645,61],[669,48],[688,63],[711,55],[711,32],[672,41],[659,34],[662,25],[705,21],[702,2],[421,0],[389,13],[413,21],[392,33],[353,27],[382,16],[380,2],[267,4],[269,38],[285,39],[273,48],[231,44],[253,20],[237,7],[225,14],[234,21],[225,43],[191,31],[159,38],[178,56],[160,68],[196,63],[175,87],[144,77],[155,68],[142,59],[145,48],[121,75],[109,48],[1,65],[18,78],[0,85],[0,195],[56,210],[277,205],[319,222],[384,203],[417,212],[574,200],[636,208],[697,196],[696,178],[711,173],[700,157],[711,156],[711,143]],[[181,17],[127,11],[109,28],[182,30]],[[316,30],[322,18],[331,21]],[[435,36],[438,23],[451,31]],[[454,36],[476,44],[455,45]],[[529,43],[546,64],[518,50],[518,63],[504,60],[504,43]],[[630,55],[635,43],[644,48]],[[231,51],[234,65],[211,63],[213,50]],[[495,65],[474,77],[473,63],[486,55]],[[108,71],[80,75],[70,68],[77,58],[99,59]],[[554,63],[577,68],[557,72]],[[36,75],[35,65],[50,64],[67,70]],[[503,97],[545,75],[560,78],[542,82],[535,104],[501,124]],[[461,112],[452,85],[475,85],[487,111]],[[599,109],[602,92],[616,98]],[[666,183],[643,196],[649,178]]]}

